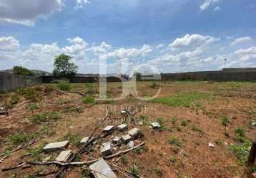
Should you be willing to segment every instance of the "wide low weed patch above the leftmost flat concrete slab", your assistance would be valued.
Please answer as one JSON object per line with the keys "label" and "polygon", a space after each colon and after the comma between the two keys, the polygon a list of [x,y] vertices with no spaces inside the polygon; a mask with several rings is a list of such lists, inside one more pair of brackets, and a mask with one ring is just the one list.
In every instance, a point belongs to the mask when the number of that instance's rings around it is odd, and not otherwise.
{"label": "wide low weed patch above the leftmost flat concrete slab", "polygon": [[59,119],[59,112],[42,112],[36,115],[33,115],[32,120],[38,124],[41,122],[47,122],[49,120]]}

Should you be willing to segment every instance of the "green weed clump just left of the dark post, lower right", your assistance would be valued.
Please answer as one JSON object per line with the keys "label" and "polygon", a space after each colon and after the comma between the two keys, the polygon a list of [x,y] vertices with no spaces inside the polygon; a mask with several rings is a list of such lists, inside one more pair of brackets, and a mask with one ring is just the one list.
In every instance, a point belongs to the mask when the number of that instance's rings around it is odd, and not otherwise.
{"label": "green weed clump just left of the dark post, lower right", "polygon": [[240,144],[230,145],[229,149],[237,157],[241,164],[246,164],[248,155],[250,153],[250,147],[252,142],[244,138],[244,141]]}

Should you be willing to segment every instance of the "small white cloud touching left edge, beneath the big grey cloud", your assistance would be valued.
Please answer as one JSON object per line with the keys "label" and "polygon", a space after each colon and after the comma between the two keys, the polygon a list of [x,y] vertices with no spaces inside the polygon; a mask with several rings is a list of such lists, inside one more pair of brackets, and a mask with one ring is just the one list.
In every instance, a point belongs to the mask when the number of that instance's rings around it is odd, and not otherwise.
{"label": "small white cloud touching left edge, beneath the big grey cloud", "polygon": [[19,41],[13,36],[0,38],[0,51],[16,51],[19,46]]}

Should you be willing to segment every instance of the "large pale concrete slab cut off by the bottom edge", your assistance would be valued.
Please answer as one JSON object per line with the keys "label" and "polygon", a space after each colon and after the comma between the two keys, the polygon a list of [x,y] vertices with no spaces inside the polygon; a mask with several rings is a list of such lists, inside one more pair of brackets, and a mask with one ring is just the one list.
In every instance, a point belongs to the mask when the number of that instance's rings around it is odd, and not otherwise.
{"label": "large pale concrete slab cut off by the bottom edge", "polygon": [[99,161],[90,165],[90,169],[94,177],[97,178],[117,178],[117,175],[114,174],[112,169],[109,167],[109,164],[104,161],[104,159],[99,159]]}

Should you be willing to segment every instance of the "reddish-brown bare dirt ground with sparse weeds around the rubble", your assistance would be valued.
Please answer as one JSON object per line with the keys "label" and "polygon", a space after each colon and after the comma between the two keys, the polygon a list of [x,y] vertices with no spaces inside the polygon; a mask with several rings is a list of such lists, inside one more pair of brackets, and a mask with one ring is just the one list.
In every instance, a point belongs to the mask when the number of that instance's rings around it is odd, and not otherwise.
{"label": "reddish-brown bare dirt ground with sparse weeds around the rubble", "polygon": [[[109,164],[137,173],[141,177],[251,177],[255,168],[247,167],[245,159],[250,149],[250,138],[256,134],[256,83],[166,82],[137,83],[142,96],[161,93],[156,100],[142,101],[129,95],[124,100],[82,103],[77,93],[98,97],[97,84],[72,84],[71,92],[57,90],[57,85],[40,85],[31,91],[1,94],[0,106],[9,115],[0,115],[0,169],[14,167],[29,160],[54,160],[58,152],[41,152],[46,142],[69,140],[69,149],[78,149],[82,137],[89,136],[99,119],[111,117],[99,127],[96,135],[107,125],[119,125],[123,108],[135,110],[129,117],[129,129],[139,127],[144,137],[135,145],[147,141],[142,148],[129,152]],[[120,83],[109,83],[109,97],[120,95]],[[18,98],[18,99],[17,99]],[[11,103],[11,104],[10,104]],[[45,114],[46,113],[46,114]],[[161,130],[149,124],[158,121]],[[138,124],[143,121],[143,125]],[[115,131],[104,140],[123,135]],[[34,141],[34,142],[31,142]],[[215,145],[214,148],[208,146]],[[20,145],[29,145],[11,152]],[[87,161],[102,157],[100,145],[76,157]],[[122,145],[117,148],[125,150]],[[112,167],[114,169],[114,167]],[[55,173],[55,166],[33,166],[0,172],[0,177],[39,177]],[[122,174],[115,171],[119,177]],[[52,177],[48,174],[46,177]],[[87,177],[87,167],[69,167],[62,177]]]}

